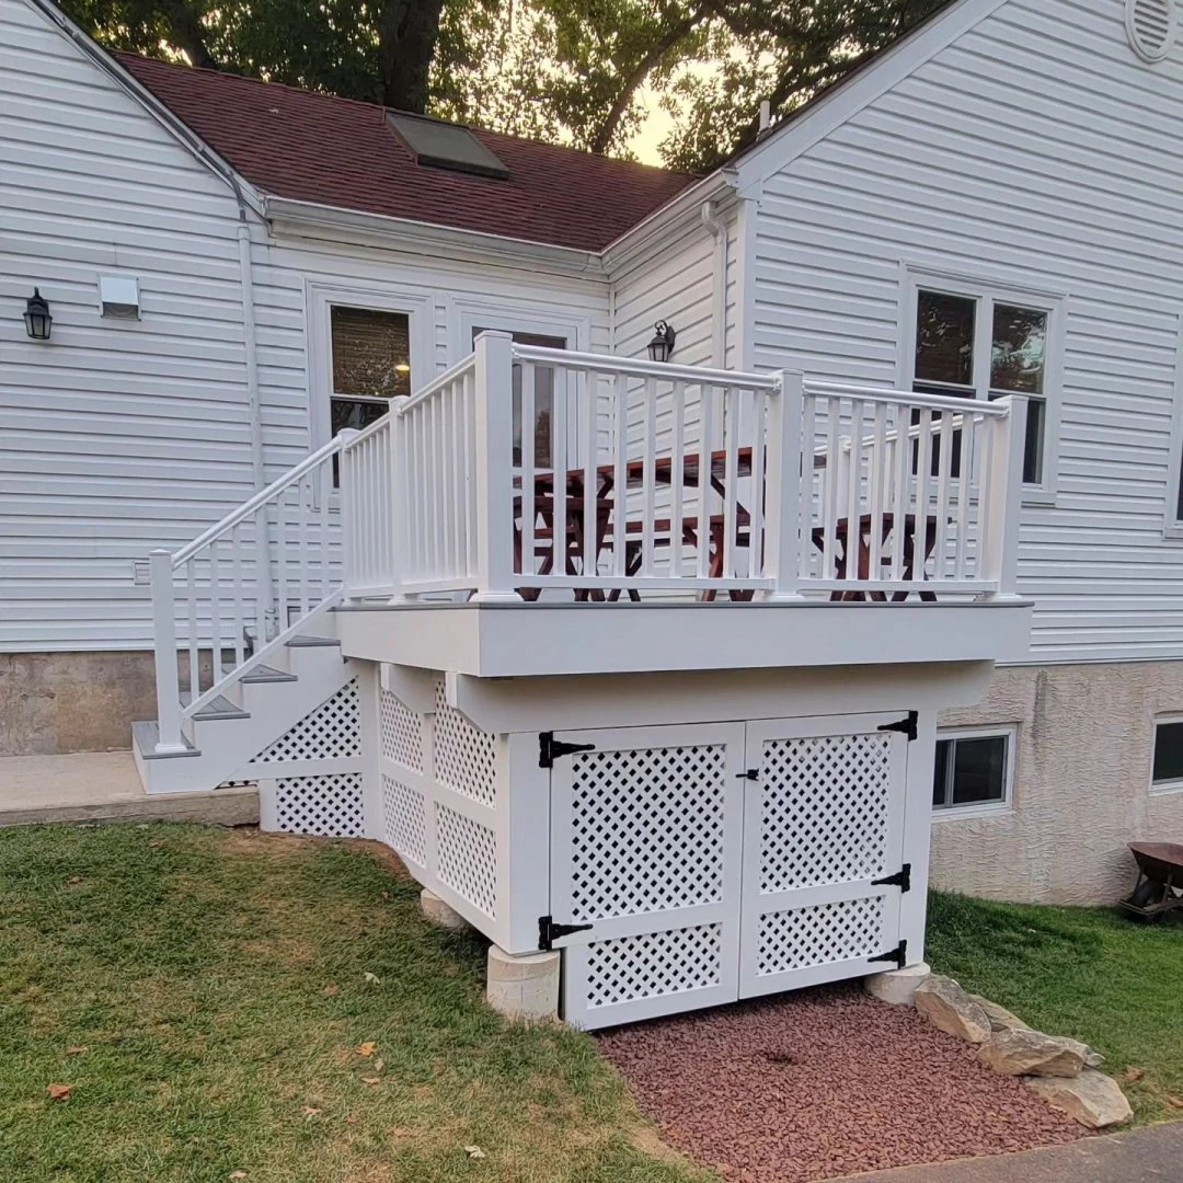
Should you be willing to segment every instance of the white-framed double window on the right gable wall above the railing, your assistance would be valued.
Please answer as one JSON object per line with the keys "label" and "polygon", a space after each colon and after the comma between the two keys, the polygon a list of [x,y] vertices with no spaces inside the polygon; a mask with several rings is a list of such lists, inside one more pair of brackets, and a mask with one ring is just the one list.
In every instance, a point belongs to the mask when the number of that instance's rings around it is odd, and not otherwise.
{"label": "white-framed double window on the right gable wall above the railing", "polygon": [[938,277],[917,278],[912,290],[911,388],[983,400],[1026,395],[1023,484],[1034,487],[1046,487],[1049,478],[1056,303]]}

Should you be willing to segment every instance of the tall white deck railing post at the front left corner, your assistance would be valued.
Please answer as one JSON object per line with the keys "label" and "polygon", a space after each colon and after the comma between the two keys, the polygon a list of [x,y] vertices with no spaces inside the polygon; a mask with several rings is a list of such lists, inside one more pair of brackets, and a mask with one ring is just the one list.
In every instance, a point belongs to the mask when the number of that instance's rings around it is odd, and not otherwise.
{"label": "tall white deck railing post at the front left corner", "polygon": [[521,600],[513,589],[513,337],[477,337],[476,603]]}

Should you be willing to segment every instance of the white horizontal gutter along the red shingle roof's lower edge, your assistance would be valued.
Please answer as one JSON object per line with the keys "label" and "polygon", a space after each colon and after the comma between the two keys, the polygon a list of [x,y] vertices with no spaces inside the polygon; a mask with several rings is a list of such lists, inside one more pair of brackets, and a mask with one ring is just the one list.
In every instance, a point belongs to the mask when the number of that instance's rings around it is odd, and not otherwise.
{"label": "white horizontal gutter along the red shingle roof's lower edge", "polygon": [[292,231],[322,228],[327,231],[353,231],[362,235],[377,237],[384,245],[397,246],[412,254],[439,256],[454,253],[472,259],[479,257],[493,266],[508,266],[506,256],[534,266],[545,266],[563,274],[587,274],[603,277],[602,252],[584,251],[570,246],[555,246],[531,239],[489,234],[483,231],[460,230],[438,222],[419,221],[414,218],[392,218],[371,214],[343,206],[327,206],[316,201],[299,201],[266,194],[263,198],[263,215],[272,222],[290,222]]}

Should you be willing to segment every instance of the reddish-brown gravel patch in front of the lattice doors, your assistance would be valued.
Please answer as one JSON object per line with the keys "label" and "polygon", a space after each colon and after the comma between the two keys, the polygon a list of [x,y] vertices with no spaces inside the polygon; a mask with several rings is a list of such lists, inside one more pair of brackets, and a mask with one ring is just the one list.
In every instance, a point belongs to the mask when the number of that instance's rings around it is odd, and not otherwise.
{"label": "reddish-brown gravel patch in front of the lattice doors", "polygon": [[733,1183],[1056,1145],[1085,1131],[976,1048],[856,985],[803,990],[600,1035],[675,1149]]}

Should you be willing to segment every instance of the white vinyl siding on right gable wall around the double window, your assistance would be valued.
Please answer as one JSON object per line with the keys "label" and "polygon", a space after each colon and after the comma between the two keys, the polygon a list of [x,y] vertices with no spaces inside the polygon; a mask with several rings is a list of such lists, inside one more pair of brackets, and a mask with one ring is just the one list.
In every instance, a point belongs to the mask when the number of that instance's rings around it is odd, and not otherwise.
{"label": "white vinyl siding on right gable wall around the double window", "polygon": [[1055,499],[1022,521],[1035,660],[1183,657],[1181,112],[1183,54],[1140,63],[1121,5],[1009,0],[763,185],[759,369],[899,382],[906,269],[1064,298]]}

